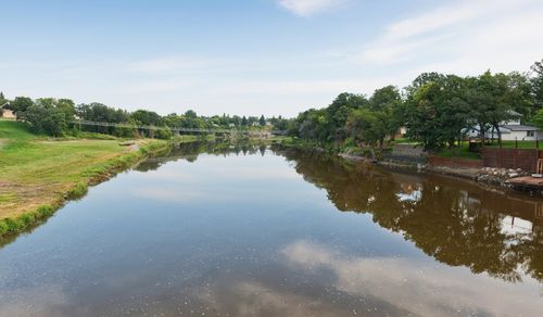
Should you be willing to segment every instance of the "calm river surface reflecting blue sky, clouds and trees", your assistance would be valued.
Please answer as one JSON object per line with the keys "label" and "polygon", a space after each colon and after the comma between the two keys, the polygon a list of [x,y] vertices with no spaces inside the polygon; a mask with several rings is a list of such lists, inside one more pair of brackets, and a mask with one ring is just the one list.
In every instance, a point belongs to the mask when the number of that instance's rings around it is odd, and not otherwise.
{"label": "calm river surface reflecting blue sky, clouds and trees", "polygon": [[0,249],[1,316],[543,316],[543,203],[191,143]]}

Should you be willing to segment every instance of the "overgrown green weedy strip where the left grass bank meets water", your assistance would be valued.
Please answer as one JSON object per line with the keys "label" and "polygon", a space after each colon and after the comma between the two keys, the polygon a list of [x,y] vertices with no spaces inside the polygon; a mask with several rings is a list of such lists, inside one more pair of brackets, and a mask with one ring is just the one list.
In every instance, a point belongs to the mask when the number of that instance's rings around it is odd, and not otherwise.
{"label": "overgrown green weedy strip where the left grass bank meets water", "polygon": [[[175,142],[191,142],[193,140],[175,140]],[[92,169],[94,166],[88,166],[92,174],[86,180],[78,181],[70,190],[60,193],[51,204],[38,206],[35,210],[28,211],[20,216],[7,217],[0,220],[0,240],[7,239],[45,223],[58,210],[63,207],[70,201],[78,200],[87,193],[89,187],[97,186],[104,182],[115,175],[131,168],[139,164],[141,161],[147,160],[153,155],[157,155],[171,149],[174,140],[151,140],[138,147],[136,151],[131,151],[119,156],[108,160],[100,165],[103,168]]]}

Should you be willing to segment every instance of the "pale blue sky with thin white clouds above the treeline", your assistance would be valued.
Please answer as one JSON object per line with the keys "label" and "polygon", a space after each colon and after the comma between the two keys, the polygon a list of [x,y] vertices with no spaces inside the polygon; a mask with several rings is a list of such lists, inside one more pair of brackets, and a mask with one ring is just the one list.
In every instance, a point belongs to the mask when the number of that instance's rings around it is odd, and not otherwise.
{"label": "pale blue sky with thin white clouds above the treeline", "polygon": [[0,0],[0,91],[283,115],[422,72],[528,72],[542,0]]}

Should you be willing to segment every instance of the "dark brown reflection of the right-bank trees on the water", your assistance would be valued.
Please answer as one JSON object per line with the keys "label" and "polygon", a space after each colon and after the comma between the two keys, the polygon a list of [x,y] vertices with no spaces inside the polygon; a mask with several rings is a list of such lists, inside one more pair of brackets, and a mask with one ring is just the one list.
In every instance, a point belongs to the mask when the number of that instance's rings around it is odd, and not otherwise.
{"label": "dark brown reflection of the right-bank trees on the water", "polygon": [[[327,155],[281,151],[341,212],[368,213],[451,266],[543,282],[543,201],[438,175],[399,174]],[[521,270],[521,272],[519,271]]]}

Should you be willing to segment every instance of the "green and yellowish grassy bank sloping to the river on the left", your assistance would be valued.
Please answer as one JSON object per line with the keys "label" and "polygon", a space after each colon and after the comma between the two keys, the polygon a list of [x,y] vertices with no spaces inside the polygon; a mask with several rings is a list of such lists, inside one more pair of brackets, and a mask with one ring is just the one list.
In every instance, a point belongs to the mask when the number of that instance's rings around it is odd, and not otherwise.
{"label": "green and yellowish grassy bank sloping to the river on the left", "polygon": [[83,196],[89,185],[168,144],[149,139],[51,139],[30,134],[22,123],[0,121],[0,237],[39,223],[66,200]]}

